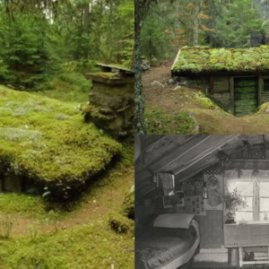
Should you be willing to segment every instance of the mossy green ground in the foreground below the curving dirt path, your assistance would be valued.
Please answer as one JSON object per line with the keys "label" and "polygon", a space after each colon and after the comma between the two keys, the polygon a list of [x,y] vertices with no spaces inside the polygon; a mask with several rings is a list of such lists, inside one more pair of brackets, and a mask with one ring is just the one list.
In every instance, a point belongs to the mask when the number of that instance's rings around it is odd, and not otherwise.
{"label": "mossy green ground in the foreground below the curving dirt path", "polygon": [[134,268],[134,236],[121,234],[108,226],[108,217],[79,228],[62,230],[50,236],[0,240],[0,266],[6,269],[34,268]]}

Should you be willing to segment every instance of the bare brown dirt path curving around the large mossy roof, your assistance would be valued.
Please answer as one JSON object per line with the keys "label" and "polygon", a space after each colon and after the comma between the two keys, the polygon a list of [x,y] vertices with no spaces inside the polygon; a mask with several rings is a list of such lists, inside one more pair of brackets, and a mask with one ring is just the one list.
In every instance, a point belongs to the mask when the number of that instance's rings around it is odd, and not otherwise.
{"label": "bare brown dirt path curving around the large mossy roof", "polygon": [[115,180],[106,185],[103,183],[105,178],[100,178],[73,212],[56,218],[55,221],[40,219],[39,216],[26,217],[23,213],[0,213],[0,218],[13,221],[11,236],[19,234],[30,236],[30,232],[33,231],[37,234],[48,234],[91,223],[101,215],[117,209],[122,204],[126,191],[134,185],[134,168],[112,169],[107,176],[115,177]]}

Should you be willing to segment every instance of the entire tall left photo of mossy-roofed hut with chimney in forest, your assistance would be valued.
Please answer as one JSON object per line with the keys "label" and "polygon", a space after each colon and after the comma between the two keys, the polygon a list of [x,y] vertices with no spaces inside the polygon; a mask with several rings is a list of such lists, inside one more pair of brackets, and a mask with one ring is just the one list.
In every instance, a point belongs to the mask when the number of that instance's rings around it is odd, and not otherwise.
{"label": "entire tall left photo of mossy-roofed hut with chimney in forest", "polygon": [[134,268],[134,1],[0,1],[0,267]]}

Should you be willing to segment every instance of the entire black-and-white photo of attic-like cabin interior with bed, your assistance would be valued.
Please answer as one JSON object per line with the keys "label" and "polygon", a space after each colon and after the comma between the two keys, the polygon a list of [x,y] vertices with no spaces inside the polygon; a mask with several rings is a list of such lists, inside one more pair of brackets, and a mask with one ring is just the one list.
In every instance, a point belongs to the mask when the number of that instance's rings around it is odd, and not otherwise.
{"label": "entire black-and-white photo of attic-like cabin interior with bed", "polygon": [[269,135],[136,135],[135,269],[267,268]]}

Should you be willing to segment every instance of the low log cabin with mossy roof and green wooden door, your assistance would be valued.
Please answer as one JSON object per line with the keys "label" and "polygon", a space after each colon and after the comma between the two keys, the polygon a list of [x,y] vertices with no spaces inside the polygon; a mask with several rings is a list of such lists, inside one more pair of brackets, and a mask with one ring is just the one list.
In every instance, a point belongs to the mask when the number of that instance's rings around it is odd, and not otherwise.
{"label": "low log cabin with mossy roof and green wooden door", "polygon": [[221,108],[237,117],[251,115],[269,101],[269,46],[184,47],[171,73],[187,86],[210,92]]}

